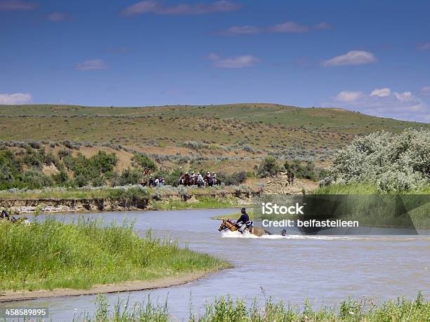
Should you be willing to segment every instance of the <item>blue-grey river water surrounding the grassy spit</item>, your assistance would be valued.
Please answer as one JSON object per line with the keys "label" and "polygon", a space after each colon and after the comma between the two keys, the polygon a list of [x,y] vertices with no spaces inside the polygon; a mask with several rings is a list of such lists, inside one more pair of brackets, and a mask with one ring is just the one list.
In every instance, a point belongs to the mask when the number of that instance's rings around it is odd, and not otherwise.
{"label": "blue-grey river water surrounding the grassy spit", "polygon": [[[419,290],[430,293],[429,236],[242,236],[219,233],[215,215],[237,213],[237,209],[145,211],[97,213],[107,221],[135,220],[136,230],[145,236],[148,229],[159,237],[179,239],[182,245],[203,253],[223,257],[235,265],[185,286],[146,292],[108,295],[120,300],[164,302],[169,298],[172,316],[188,318],[190,302],[202,309],[214,297],[230,293],[233,297],[263,299],[261,289],[275,300],[303,304],[337,304],[349,296],[374,297],[382,301],[398,295],[415,297]],[[79,215],[58,215],[67,220]],[[43,219],[43,217],[42,217]],[[248,237],[248,238],[247,238]],[[95,296],[59,297],[0,307],[49,307],[54,321],[69,321],[74,309],[93,311]]]}

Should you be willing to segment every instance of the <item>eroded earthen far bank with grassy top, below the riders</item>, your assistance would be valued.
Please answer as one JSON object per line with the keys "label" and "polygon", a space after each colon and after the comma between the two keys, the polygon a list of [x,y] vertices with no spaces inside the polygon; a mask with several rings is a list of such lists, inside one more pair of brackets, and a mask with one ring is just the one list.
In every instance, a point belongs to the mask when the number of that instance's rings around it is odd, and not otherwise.
{"label": "eroded earthen far bank with grassy top, below the riders", "polygon": [[140,186],[0,192],[0,208],[22,214],[229,208],[251,204],[260,191],[244,187],[186,189]]}

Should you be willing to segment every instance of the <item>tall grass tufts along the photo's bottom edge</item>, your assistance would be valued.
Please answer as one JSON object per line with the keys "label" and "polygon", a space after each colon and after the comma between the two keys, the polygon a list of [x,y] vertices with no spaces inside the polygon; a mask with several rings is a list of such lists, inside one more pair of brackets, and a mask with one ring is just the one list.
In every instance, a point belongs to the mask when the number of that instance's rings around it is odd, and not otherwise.
{"label": "tall grass tufts along the photo's bottom edge", "polygon": [[[100,295],[96,302],[95,316],[83,314],[74,316],[74,321],[170,321],[167,302],[151,304],[148,302],[136,303],[133,307],[118,302],[110,308],[104,295]],[[208,304],[201,316],[190,312],[188,321],[200,322],[230,322],[230,321],[429,321],[430,302],[424,302],[422,293],[415,301],[399,297],[377,306],[372,300],[347,300],[341,302],[339,309],[321,307],[314,310],[306,300],[304,309],[285,305],[283,302],[266,300],[263,307],[254,301],[248,305],[245,300],[233,300],[230,296],[220,297],[213,304]]]}

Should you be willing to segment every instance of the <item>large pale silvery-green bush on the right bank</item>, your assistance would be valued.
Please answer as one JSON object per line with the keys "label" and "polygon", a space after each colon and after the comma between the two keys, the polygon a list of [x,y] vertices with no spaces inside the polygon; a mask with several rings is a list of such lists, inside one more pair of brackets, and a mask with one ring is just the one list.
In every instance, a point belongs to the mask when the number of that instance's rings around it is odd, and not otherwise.
{"label": "large pale silvery-green bush on the right bank", "polygon": [[377,184],[383,192],[405,192],[430,183],[430,131],[377,132],[357,137],[334,155],[337,183]]}

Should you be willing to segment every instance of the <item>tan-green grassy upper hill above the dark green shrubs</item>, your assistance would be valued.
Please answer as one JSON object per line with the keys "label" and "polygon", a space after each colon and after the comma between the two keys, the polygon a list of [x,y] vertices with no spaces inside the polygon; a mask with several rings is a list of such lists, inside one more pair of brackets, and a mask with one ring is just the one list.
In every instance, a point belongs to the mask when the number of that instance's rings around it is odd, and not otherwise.
{"label": "tan-green grassy upper hill above the dark green shrubs", "polygon": [[[48,145],[70,140],[82,142],[87,154],[98,151],[94,144],[112,148],[121,145],[156,156],[166,168],[190,159],[209,168],[252,168],[267,154],[325,164],[353,135],[377,130],[398,132],[403,128],[429,129],[430,124],[346,109],[274,104],[0,105],[2,141],[39,140]],[[126,159],[124,154],[124,163],[128,163]]]}

